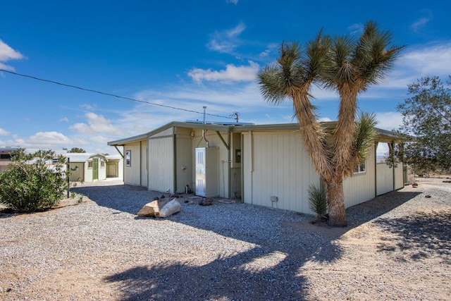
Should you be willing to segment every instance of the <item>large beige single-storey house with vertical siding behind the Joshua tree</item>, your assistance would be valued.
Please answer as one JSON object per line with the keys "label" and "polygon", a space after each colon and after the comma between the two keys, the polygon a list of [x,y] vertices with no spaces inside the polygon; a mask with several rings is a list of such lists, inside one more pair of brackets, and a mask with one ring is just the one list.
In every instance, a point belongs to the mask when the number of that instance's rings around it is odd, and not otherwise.
{"label": "large beige single-storey house with vertical siding behind the Joshua tree", "polygon": [[[335,123],[323,123],[334,128]],[[242,199],[249,204],[311,214],[309,185],[319,175],[297,123],[172,122],[149,133],[108,142],[124,149],[124,183],[161,192]],[[402,188],[403,166],[378,164],[378,143],[393,147],[395,133],[378,129],[364,164],[344,182],[345,207]]]}

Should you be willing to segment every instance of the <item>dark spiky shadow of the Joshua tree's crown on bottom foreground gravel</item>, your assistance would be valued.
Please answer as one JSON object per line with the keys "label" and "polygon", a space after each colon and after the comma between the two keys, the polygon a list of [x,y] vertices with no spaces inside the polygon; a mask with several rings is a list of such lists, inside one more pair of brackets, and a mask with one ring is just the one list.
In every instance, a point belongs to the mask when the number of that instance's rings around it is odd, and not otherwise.
{"label": "dark spiky shadow of the Joshua tree's crown on bottom foreground gravel", "polygon": [[[304,278],[297,269],[305,259],[288,258],[274,269],[246,270],[260,258],[255,247],[204,266],[136,266],[104,278],[121,290],[121,300],[302,300]],[[290,257],[290,255],[288,255]]]}

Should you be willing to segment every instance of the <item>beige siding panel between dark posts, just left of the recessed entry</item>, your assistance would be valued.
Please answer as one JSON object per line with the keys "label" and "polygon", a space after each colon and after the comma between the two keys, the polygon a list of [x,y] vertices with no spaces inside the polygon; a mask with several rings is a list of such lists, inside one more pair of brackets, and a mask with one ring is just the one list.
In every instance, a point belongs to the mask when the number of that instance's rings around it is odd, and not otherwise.
{"label": "beige siding panel between dark posts, just left of the recessed entry", "polygon": [[173,137],[149,141],[149,190],[174,192]]}

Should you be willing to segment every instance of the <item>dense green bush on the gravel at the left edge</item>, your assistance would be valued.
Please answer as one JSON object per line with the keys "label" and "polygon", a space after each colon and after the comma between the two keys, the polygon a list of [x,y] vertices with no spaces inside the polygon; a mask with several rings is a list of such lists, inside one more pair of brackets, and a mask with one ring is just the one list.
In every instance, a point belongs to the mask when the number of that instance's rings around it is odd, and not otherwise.
{"label": "dense green bush on the gravel at the left edge", "polygon": [[69,188],[64,166],[65,158],[49,150],[11,152],[8,170],[0,173],[0,203],[25,212],[55,206]]}

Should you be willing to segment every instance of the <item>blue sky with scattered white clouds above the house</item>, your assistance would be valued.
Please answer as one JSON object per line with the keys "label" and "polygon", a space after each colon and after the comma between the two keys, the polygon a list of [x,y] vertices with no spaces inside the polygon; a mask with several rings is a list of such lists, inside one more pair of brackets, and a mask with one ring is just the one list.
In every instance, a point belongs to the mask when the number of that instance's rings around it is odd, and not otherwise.
{"label": "blue sky with scattered white clouds above the house", "polygon": [[[401,2],[401,1],[399,1]],[[451,4],[409,1],[1,1],[0,68],[182,110],[76,90],[0,72],[0,147],[82,147],[171,121],[291,123],[292,104],[264,102],[257,72],[282,41],[301,44],[321,28],[356,35],[374,20],[407,45],[388,77],[359,95],[379,128],[402,122],[407,85],[451,74]],[[321,120],[335,120],[338,97],[315,88]],[[189,111],[198,111],[192,113]]]}

